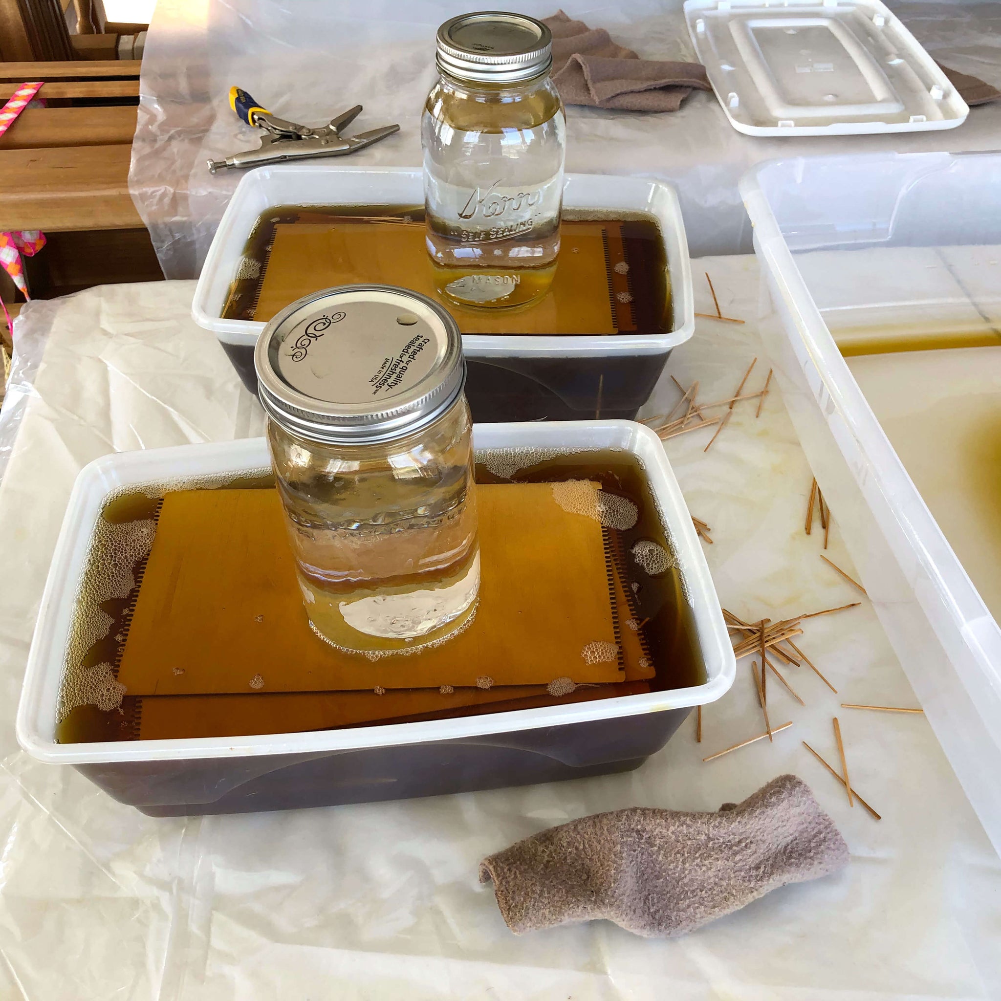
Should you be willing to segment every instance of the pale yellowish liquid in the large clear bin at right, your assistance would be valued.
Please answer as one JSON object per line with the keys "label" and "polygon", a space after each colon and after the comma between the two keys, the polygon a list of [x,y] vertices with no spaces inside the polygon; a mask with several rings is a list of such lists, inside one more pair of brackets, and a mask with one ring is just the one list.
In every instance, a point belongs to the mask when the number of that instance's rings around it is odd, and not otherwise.
{"label": "pale yellowish liquid in the large clear bin at right", "polygon": [[1001,621],[1001,346],[846,360],[974,587]]}

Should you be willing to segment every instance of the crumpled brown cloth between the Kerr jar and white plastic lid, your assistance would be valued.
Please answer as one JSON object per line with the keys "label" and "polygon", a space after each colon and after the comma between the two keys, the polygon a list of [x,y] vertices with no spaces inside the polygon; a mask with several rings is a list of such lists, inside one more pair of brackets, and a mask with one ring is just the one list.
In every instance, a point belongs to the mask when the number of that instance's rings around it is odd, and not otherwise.
{"label": "crumpled brown cloth between the Kerr jar and white plastic lid", "polygon": [[701,63],[654,62],[617,45],[562,10],[545,19],[553,32],[553,82],[564,104],[621,111],[677,111],[694,87],[712,90]]}

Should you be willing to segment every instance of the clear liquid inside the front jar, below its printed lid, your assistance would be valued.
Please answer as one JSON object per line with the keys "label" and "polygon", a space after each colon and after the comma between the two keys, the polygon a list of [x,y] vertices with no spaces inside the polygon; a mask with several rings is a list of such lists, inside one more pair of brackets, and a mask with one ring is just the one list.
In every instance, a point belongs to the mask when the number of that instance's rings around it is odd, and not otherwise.
{"label": "clear liquid inside the front jar, below its printed lid", "polygon": [[450,638],[475,614],[471,462],[429,469],[419,452],[388,462],[312,454],[277,477],[310,625],[338,649],[406,653]]}

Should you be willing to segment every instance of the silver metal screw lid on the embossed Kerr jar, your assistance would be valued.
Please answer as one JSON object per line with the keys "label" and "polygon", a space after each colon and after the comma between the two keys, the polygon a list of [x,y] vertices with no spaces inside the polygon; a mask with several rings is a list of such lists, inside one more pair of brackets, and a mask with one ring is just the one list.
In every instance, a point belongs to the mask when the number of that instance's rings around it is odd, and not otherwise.
{"label": "silver metal screw lid on the embossed Kerr jar", "polygon": [[549,72],[552,47],[553,34],[542,21],[484,10],[438,28],[437,65],[459,80],[517,83]]}

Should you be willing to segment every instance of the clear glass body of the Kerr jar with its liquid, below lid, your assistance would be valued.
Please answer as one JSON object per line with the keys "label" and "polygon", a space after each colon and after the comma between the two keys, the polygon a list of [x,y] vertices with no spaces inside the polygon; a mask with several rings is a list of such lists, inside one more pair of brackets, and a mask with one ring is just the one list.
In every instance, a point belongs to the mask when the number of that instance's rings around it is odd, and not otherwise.
{"label": "clear glass body of the Kerr jar with its liquid, below lid", "polygon": [[510,100],[498,94],[439,84],[421,123],[434,283],[462,305],[536,301],[549,290],[560,251],[560,99],[549,81]]}

